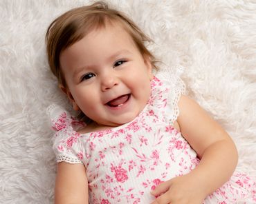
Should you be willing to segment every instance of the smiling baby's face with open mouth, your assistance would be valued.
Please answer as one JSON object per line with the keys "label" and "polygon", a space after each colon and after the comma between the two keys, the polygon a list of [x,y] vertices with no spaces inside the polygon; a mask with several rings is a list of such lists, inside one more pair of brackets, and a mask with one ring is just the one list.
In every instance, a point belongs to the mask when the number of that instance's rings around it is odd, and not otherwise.
{"label": "smiling baby's face with open mouth", "polygon": [[73,103],[100,125],[132,121],[147,104],[152,64],[121,26],[93,30],[60,63]]}

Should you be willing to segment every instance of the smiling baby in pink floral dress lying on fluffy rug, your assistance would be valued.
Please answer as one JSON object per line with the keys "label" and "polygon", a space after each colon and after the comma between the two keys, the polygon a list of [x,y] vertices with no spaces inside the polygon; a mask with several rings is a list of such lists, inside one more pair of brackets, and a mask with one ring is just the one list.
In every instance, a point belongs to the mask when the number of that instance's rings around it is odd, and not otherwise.
{"label": "smiling baby in pink floral dress lying on fluffy rug", "polygon": [[[154,76],[150,39],[106,3],[70,10],[46,34],[48,62],[78,118],[57,106],[55,203],[256,202],[230,136],[178,76]],[[84,123],[83,121],[86,121]]]}

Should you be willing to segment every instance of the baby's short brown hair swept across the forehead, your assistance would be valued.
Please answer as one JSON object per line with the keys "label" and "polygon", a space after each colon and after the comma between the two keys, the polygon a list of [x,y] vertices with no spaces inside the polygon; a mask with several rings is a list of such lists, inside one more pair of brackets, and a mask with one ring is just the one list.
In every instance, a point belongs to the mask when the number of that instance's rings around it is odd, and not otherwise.
{"label": "baby's short brown hair swept across the forehead", "polygon": [[105,27],[107,23],[112,22],[120,23],[125,28],[143,57],[148,57],[153,68],[156,69],[156,59],[144,45],[145,42],[152,42],[152,40],[125,14],[109,8],[107,3],[98,1],[91,6],[74,8],[65,12],[51,23],[46,32],[48,63],[59,84],[64,88],[67,88],[67,85],[60,68],[61,52],[83,39],[92,30]]}

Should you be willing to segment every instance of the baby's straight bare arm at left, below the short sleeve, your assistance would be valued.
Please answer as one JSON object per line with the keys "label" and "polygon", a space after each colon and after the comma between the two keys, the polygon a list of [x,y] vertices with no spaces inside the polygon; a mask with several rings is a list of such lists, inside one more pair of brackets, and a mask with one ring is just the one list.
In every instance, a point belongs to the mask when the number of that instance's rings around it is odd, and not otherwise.
{"label": "baby's straight bare arm at left, below the short sleeve", "polygon": [[82,164],[57,164],[55,204],[84,204],[88,201],[88,183]]}

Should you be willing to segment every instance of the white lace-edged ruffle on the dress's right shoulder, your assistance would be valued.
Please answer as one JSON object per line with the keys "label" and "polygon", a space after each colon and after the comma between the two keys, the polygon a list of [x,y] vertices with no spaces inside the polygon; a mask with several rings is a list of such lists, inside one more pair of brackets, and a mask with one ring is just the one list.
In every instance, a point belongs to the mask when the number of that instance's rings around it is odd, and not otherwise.
{"label": "white lace-edged ruffle on the dress's right shoulder", "polygon": [[166,87],[165,93],[163,93],[163,97],[166,98],[164,115],[170,125],[174,125],[174,122],[179,116],[178,103],[181,98],[181,94],[185,94],[185,84],[180,77],[182,72],[183,68],[178,67],[170,70],[165,69],[165,71],[157,75]]}

